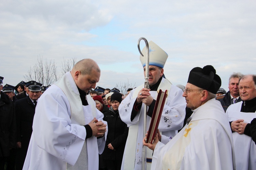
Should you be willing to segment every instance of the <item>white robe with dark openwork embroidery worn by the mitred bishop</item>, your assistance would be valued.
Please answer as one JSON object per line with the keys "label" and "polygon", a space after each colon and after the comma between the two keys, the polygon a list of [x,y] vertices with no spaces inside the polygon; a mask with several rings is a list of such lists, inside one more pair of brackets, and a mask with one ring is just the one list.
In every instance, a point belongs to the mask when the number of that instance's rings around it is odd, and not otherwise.
{"label": "white robe with dark openwork embroidery worn by the mitred bishop", "polygon": [[[121,169],[142,169],[142,140],[143,140],[143,124],[144,124],[144,103],[141,106],[141,110],[136,117],[131,121],[131,112],[133,104],[136,101],[138,92],[143,88],[144,85],[133,89],[130,94],[120,103],[119,114],[123,122],[129,127],[129,134],[126,141],[124,157]],[[158,90],[165,91],[169,90],[166,104],[163,108],[162,116],[159,123],[159,131],[163,135],[173,137],[177,134],[177,130],[180,130],[183,126],[185,118],[186,101],[182,97],[182,90],[165,79],[162,78]],[[157,91],[150,91],[153,99],[157,96]],[[150,125],[151,117],[147,116],[146,129]],[[168,138],[166,143],[168,142]],[[149,150],[151,151],[151,150]],[[146,151],[147,152],[147,151]],[[152,161],[152,152],[146,153],[147,163],[145,169],[150,169]]]}

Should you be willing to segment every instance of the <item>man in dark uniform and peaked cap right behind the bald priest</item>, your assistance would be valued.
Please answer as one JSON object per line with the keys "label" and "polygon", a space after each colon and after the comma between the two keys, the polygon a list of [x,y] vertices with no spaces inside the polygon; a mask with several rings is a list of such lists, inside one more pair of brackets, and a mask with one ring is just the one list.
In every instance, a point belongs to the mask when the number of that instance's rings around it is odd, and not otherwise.
{"label": "man in dark uniform and peaked cap right behind the bald priest", "polygon": [[17,122],[17,155],[16,170],[23,168],[28,151],[28,145],[32,134],[32,125],[35,114],[35,106],[41,95],[41,83],[31,81],[28,86],[28,96],[15,102]]}

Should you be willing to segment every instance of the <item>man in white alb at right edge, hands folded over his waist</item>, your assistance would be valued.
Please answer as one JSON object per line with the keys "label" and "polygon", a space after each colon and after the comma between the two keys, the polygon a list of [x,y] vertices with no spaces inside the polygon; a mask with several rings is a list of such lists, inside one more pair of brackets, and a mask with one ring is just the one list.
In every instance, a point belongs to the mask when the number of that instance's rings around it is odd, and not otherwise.
{"label": "man in white alb at right edge, hands folded over his waist", "polygon": [[226,112],[233,132],[236,167],[239,170],[256,168],[256,145],[251,137],[251,121],[256,118],[255,83],[256,75],[242,77],[238,85],[242,101],[230,105]]}

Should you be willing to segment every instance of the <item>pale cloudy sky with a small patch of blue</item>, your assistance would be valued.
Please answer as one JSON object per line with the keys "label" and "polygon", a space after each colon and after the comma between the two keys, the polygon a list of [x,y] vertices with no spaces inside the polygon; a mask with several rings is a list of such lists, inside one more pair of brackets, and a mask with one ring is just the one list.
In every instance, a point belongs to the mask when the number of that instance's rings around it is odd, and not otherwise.
{"label": "pale cloudy sky with a small patch of blue", "polygon": [[255,73],[255,9],[254,0],[1,0],[0,76],[15,86],[38,56],[58,69],[63,58],[92,58],[101,68],[98,86],[139,86],[137,41],[145,37],[168,53],[164,73],[172,84],[213,65],[228,90],[232,72]]}

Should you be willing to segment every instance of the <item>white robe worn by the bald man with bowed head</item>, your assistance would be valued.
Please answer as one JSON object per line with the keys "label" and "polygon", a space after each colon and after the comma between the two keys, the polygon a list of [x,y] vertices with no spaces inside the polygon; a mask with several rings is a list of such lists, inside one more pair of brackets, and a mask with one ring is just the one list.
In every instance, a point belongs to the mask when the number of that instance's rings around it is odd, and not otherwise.
{"label": "white robe worn by the bald man with bowed head", "polygon": [[[98,154],[104,150],[107,132],[102,138],[92,136],[85,140],[86,129],[83,125],[88,124],[94,117],[102,120],[103,114],[98,109],[94,110],[95,102],[93,104],[90,95],[86,95],[89,105],[83,106],[70,72],[64,77],[71,96],[54,84],[39,98],[23,169],[98,170]],[[72,100],[68,100],[67,96]],[[82,111],[79,119],[85,123],[83,125],[74,123],[80,121],[73,118],[76,116],[74,112],[79,112],[79,108]]]}

